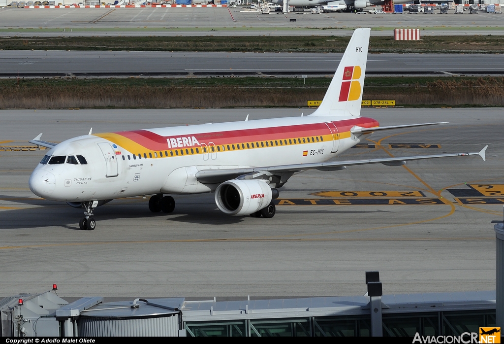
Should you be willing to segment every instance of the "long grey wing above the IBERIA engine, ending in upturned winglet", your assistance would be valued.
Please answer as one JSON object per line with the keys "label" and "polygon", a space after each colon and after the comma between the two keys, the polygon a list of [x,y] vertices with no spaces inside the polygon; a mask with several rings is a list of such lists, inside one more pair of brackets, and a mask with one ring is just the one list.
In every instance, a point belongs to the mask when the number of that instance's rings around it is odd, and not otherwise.
{"label": "long grey wing above the IBERIA engine, ending in upturned winglet", "polygon": [[[485,151],[488,148],[486,145],[479,152],[469,153],[452,153],[452,154],[436,154],[436,155],[419,155],[419,156],[402,156],[397,158],[379,158],[379,159],[366,159],[366,160],[346,160],[346,161],[328,161],[316,163],[298,163],[292,165],[279,165],[279,166],[264,166],[264,167],[244,167],[244,168],[231,168],[231,169],[203,169],[196,173],[196,178],[203,184],[217,184],[223,183],[230,179],[235,179],[244,175],[251,175],[255,173],[269,173],[271,175],[278,174],[293,174],[307,169],[319,169],[323,171],[335,171],[345,169],[346,166],[365,165],[370,163],[382,163],[387,166],[401,166],[406,161],[422,160],[422,159],[435,159],[445,158],[450,156],[469,156],[479,155],[485,161]],[[247,178],[245,178],[247,179]]]}

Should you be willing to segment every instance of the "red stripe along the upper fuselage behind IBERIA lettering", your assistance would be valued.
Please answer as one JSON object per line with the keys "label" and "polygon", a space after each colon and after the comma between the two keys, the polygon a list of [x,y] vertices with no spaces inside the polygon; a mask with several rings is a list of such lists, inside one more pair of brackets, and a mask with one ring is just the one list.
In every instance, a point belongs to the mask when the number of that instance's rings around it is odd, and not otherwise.
{"label": "red stripe along the upper fuselage behind IBERIA lettering", "polygon": [[[373,119],[358,117],[355,119],[333,122],[340,133],[348,132],[354,126],[363,128],[377,127],[379,123]],[[236,144],[253,141],[284,140],[290,138],[302,138],[308,136],[321,136],[330,134],[325,122],[305,125],[265,127],[255,129],[230,130],[222,132],[209,132],[199,134],[184,134],[174,136],[161,136],[148,130],[123,131],[114,133],[124,136],[130,140],[144,146],[149,150],[166,150],[168,144],[166,139],[177,137],[194,136],[200,144],[212,142],[216,145]]]}

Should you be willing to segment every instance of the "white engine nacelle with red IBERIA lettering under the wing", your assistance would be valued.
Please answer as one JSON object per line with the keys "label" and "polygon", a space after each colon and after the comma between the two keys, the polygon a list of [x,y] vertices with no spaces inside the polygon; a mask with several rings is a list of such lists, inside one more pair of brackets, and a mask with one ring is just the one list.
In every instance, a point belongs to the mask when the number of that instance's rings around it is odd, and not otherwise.
{"label": "white engine nacelle with red IBERIA lettering under the wing", "polygon": [[215,190],[215,203],[225,214],[250,215],[266,208],[272,199],[271,188],[261,180],[233,179]]}

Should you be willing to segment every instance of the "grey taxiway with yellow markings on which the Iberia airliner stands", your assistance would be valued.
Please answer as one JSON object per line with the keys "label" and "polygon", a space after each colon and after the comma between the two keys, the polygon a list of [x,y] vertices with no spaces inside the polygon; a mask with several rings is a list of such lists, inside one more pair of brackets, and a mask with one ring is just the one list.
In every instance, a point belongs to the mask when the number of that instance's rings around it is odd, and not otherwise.
{"label": "grey taxiway with yellow markings on which the Iberia airliner stands", "polygon": [[[28,189],[44,150],[27,141],[300,116],[310,109],[2,110],[0,291],[63,297],[296,297],[363,295],[364,271],[380,270],[384,294],[495,288],[495,234],[502,219],[502,108],[362,109],[381,125],[445,126],[373,134],[339,159],[479,151],[405,166],[311,171],[280,189],[272,219],[229,217],[213,194],[174,196],[152,214],[142,197],[95,211],[38,199]],[[18,147],[18,148],[16,148]],[[18,149],[18,150],[16,150]],[[493,192],[493,194],[491,194]],[[280,204],[283,202],[282,204]],[[293,204],[291,204],[293,203]]]}

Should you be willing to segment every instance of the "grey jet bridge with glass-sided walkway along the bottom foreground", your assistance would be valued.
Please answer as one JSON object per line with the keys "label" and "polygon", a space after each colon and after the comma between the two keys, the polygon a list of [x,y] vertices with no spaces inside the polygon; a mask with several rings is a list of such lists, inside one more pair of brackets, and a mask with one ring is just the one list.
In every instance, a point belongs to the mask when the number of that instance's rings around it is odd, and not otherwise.
{"label": "grey jet bridge with glass-sided walkway along the bottom foreground", "polygon": [[0,314],[2,335],[13,337],[437,336],[478,332],[496,323],[494,291],[372,295],[120,302],[88,297],[68,303],[48,291],[5,298]]}

